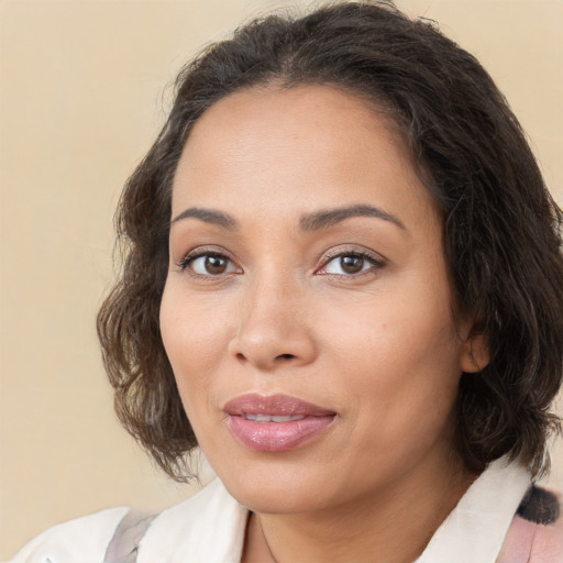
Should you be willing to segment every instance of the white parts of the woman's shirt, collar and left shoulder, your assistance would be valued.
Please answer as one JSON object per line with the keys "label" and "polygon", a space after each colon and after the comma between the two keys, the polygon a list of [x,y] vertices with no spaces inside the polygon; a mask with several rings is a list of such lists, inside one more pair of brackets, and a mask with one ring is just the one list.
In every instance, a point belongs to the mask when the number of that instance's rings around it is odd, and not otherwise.
{"label": "white parts of the woman's shirt, collar and left shoulder", "polygon": [[[495,563],[529,487],[530,477],[520,466],[501,460],[490,464],[415,563]],[[101,563],[128,512],[128,508],[113,508],[56,526],[30,542],[12,562]],[[249,510],[214,479],[151,522],[135,550],[136,562],[239,563],[247,519]]]}

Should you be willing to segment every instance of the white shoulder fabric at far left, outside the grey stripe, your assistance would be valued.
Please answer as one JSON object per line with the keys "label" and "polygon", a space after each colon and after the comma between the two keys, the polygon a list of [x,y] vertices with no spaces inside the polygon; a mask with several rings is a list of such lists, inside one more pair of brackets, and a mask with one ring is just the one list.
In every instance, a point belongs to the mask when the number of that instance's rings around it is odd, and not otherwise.
{"label": "white shoulder fabric at far left, outside the grey stripe", "polygon": [[100,563],[129,508],[109,508],[44,531],[10,563]]}

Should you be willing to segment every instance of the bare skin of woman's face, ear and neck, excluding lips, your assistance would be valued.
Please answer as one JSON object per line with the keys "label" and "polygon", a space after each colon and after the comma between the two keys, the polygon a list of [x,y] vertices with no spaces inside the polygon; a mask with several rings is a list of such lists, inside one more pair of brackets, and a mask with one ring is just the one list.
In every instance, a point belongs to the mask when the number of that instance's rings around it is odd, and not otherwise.
{"label": "bare skin of woman's face, ear and neck, excluding lips", "polygon": [[[475,478],[453,405],[486,346],[454,314],[441,220],[388,125],[324,86],[241,91],[199,119],[177,168],[162,334],[206,456],[253,511],[246,562],[411,562]],[[302,229],[358,205],[386,216]],[[194,252],[225,258],[187,265]],[[251,451],[222,410],[246,393],[336,417],[294,450]]]}

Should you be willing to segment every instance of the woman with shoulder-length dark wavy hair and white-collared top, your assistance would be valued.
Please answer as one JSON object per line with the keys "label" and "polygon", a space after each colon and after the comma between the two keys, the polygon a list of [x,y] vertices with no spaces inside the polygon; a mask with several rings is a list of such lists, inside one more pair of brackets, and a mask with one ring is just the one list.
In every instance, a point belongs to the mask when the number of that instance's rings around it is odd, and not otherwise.
{"label": "woman with shoulder-length dark wavy hair and white-collared top", "polygon": [[15,561],[563,561],[530,485],[561,219],[488,75],[423,21],[336,3],[211,46],[125,187],[98,328],[128,430],[219,479]]}

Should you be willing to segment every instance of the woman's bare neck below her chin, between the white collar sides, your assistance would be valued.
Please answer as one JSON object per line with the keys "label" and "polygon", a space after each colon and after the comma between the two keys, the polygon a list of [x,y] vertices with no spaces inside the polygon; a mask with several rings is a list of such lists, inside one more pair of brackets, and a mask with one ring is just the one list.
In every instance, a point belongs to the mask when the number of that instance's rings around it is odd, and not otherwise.
{"label": "woman's bare neck below her chin, between the white collar sides", "polygon": [[411,563],[475,478],[461,463],[429,477],[398,478],[383,492],[314,514],[254,514],[243,562]]}

